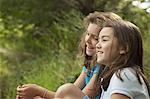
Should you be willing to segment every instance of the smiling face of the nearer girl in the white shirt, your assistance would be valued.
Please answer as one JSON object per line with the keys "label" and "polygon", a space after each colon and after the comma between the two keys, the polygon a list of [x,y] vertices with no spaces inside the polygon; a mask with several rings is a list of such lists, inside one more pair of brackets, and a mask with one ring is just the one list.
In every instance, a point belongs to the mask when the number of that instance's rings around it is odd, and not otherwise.
{"label": "smiling face of the nearer girl in the white shirt", "polygon": [[104,27],[100,31],[96,45],[97,62],[103,65],[110,65],[120,54],[119,50],[113,28]]}

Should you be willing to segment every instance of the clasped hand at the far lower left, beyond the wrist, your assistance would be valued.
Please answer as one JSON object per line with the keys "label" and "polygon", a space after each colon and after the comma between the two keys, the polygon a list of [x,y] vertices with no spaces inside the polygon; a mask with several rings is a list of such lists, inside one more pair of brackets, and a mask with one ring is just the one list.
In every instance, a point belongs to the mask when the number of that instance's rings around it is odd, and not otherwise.
{"label": "clasped hand at the far lower left, beyond the wrist", "polygon": [[25,84],[17,87],[17,96],[16,99],[32,99],[35,96],[41,96],[44,88],[36,84]]}

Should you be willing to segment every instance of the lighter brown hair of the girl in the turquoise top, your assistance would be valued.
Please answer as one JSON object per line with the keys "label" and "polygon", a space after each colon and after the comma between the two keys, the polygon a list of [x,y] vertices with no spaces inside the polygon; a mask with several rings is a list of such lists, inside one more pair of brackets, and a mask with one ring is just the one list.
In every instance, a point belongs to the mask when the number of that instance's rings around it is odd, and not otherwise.
{"label": "lighter brown hair of the girl in the turquoise top", "polygon": [[[98,26],[102,27],[102,24],[107,20],[121,20],[122,18],[118,16],[117,14],[113,12],[93,12],[90,13],[86,18],[84,19],[84,26],[87,29],[88,25],[90,23],[97,24]],[[86,32],[83,33],[83,36],[81,37],[81,41],[79,44],[79,54],[78,56],[84,57],[84,64],[83,66],[86,66],[87,68],[90,68],[90,65],[94,65],[96,63],[96,56],[88,56],[86,54],[86,44],[85,44],[85,35]]]}

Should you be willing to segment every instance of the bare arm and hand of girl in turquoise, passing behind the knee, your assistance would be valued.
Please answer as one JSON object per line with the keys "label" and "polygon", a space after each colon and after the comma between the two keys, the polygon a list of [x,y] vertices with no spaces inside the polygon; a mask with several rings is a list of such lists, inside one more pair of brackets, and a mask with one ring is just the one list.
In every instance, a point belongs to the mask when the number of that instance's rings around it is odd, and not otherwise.
{"label": "bare arm and hand of girl in turquoise, passing behind the knee", "polygon": [[[82,89],[85,86],[85,76],[86,73],[84,72],[84,70],[82,70],[80,76],[74,82],[74,85]],[[28,97],[28,98],[34,97],[34,99],[36,98],[39,99],[39,97],[40,98],[45,97],[46,99],[52,99],[54,98],[54,96],[55,96],[55,92],[49,91],[46,88],[43,88],[36,84],[25,84],[17,87],[16,99],[19,99],[19,97]]]}

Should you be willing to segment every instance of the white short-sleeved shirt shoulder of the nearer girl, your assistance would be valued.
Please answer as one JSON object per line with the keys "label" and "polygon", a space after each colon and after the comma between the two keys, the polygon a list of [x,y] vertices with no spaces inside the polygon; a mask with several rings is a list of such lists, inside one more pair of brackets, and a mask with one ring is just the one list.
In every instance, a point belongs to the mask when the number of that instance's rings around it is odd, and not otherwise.
{"label": "white short-sleeved shirt shoulder of the nearer girl", "polygon": [[133,69],[125,68],[121,70],[120,77],[122,80],[118,78],[117,72],[113,74],[108,87],[110,94],[121,93],[127,95],[131,99],[137,95],[144,94],[144,87],[139,83]]}

